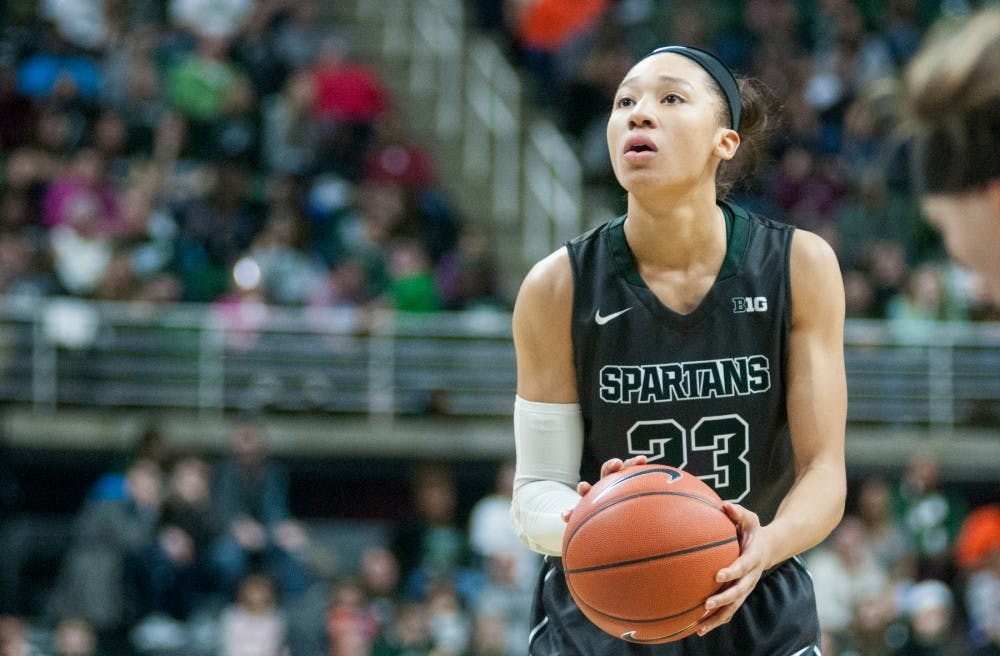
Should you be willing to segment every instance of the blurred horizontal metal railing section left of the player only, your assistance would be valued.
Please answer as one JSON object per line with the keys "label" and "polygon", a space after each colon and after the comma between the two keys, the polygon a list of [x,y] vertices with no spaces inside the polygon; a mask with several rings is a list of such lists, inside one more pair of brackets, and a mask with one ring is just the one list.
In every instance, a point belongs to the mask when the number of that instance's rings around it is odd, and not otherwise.
{"label": "blurred horizontal metal railing section left of the player only", "polygon": [[501,415],[510,317],[0,304],[0,402],[58,408]]}

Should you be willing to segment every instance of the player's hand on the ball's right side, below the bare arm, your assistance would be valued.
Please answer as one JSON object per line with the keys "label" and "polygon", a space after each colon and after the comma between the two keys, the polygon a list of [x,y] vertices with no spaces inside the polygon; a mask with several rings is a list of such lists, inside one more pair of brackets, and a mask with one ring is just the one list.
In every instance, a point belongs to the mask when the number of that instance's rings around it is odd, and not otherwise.
{"label": "player's hand on the ball's right side, below the bare arm", "polygon": [[726,586],[705,601],[705,616],[701,619],[698,635],[705,635],[733,619],[736,611],[757,587],[769,562],[770,550],[757,513],[735,503],[725,503],[723,509],[736,524],[740,556],[732,565],[720,569],[716,575],[716,580]]}

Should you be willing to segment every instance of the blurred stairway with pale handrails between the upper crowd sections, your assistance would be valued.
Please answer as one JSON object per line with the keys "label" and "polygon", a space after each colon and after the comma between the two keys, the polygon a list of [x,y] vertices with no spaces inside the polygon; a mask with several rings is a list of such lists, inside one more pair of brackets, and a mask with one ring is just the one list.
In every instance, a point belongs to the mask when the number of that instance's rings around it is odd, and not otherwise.
{"label": "blurred stairway with pale handrails between the upper crowd sections", "polygon": [[524,116],[520,75],[465,28],[460,0],[360,2],[358,18],[381,30],[380,56],[406,67],[407,92],[431,100],[428,120],[460,154],[462,184],[485,182],[489,202],[477,209],[488,209],[494,229],[520,231],[522,268],[581,231],[573,147],[547,119]]}

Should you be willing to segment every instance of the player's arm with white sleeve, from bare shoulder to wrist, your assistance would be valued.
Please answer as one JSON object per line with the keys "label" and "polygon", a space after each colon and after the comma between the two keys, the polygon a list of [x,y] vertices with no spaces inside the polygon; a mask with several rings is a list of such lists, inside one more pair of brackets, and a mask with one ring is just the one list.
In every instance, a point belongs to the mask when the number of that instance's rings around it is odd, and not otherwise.
{"label": "player's arm with white sleeve, from bare shoulder to wrist", "polygon": [[536,264],[514,304],[517,456],[511,517],[531,549],[558,555],[579,495],[583,420],[577,403],[570,322],[573,279],[561,249]]}

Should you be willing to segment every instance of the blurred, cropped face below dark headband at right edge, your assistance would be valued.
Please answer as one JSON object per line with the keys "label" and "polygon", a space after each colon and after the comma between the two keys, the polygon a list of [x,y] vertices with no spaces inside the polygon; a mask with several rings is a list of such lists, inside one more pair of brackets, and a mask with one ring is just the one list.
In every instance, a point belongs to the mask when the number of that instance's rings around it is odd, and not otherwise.
{"label": "blurred, cropped face below dark headband at right edge", "polygon": [[923,207],[948,253],[982,276],[990,296],[1000,302],[1000,182],[992,184],[997,188],[925,196]]}

